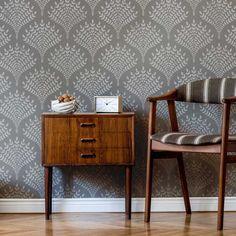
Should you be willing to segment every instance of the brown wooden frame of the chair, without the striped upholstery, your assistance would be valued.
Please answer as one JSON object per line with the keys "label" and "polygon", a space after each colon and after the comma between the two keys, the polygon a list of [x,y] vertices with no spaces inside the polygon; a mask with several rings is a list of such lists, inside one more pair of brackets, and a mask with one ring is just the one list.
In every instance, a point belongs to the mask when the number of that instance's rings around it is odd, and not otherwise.
{"label": "brown wooden frame of the chair, without the striped upholstery", "polygon": [[178,168],[180,172],[181,187],[183,191],[185,210],[187,214],[191,214],[191,206],[189,201],[189,193],[187,181],[184,170],[183,152],[194,153],[218,153],[220,154],[220,173],[219,173],[219,195],[218,195],[218,220],[217,229],[223,229],[224,219],[224,197],[225,197],[225,182],[226,182],[226,165],[228,163],[235,163],[236,156],[228,156],[227,152],[236,152],[236,144],[228,141],[229,135],[229,121],[230,121],[230,107],[232,103],[236,102],[235,97],[228,97],[222,100],[223,120],[222,120],[222,141],[220,144],[212,145],[175,145],[165,144],[151,139],[155,133],[156,127],[156,106],[158,101],[167,101],[168,111],[170,117],[171,128],[173,132],[178,132],[178,122],[175,109],[175,101],[177,97],[177,90],[173,89],[170,92],[157,96],[149,97],[149,125],[148,125],[148,150],[147,150],[147,172],[146,172],[146,199],[145,199],[145,222],[150,221],[151,210],[151,194],[152,194],[152,174],[153,174],[153,160],[161,158],[175,158],[177,159]]}

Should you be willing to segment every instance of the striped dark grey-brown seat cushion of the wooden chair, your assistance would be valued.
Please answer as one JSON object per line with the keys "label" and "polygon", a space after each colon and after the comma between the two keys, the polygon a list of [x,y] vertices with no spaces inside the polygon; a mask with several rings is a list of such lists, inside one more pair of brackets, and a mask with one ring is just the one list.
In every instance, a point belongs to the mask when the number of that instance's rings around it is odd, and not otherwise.
{"label": "striped dark grey-brown seat cushion of the wooden chair", "polygon": [[[181,132],[161,132],[152,135],[152,140],[178,145],[206,145],[221,143],[221,135],[217,134],[188,134]],[[236,142],[236,135],[230,135],[229,141]]]}

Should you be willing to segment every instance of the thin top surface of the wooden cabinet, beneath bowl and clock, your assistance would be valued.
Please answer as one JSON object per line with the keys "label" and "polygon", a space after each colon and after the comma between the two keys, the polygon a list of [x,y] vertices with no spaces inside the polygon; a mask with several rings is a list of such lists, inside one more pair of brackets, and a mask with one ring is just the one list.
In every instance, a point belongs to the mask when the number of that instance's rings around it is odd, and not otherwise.
{"label": "thin top surface of the wooden cabinet, beneath bowl and clock", "polygon": [[42,116],[56,116],[56,117],[77,117],[77,116],[133,116],[134,112],[121,112],[121,113],[96,113],[96,112],[84,112],[84,113],[72,113],[63,114],[56,112],[43,112]]}

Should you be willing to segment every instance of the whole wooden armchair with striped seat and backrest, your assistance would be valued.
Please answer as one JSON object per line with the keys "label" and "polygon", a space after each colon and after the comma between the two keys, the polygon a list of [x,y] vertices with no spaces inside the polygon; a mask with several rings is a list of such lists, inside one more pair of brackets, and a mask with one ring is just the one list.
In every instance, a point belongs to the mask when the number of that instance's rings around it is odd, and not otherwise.
{"label": "whole wooden armchair with striped seat and backrest", "polygon": [[[155,133],[156,105],[157,102],[161,100],[166,100],[168,103],[172,132]],[[148,126],[145,221],[150,221],[154,159],[177,159],[186,213],[191,214],[182,153],[218,153],[220,154],[220,173],[217,229],[222,230],[226,165],[236,162],[236,155],[228,155],[228,152],[236,152],[236,136],[229,135],[230,107],[232,103],[236,102],[236,79],[224,78],[198,80],[182,85],[164,95],[149,97],[148,101],[150,104],[150,110]],[[179,132],[175,101],[223,104],[221,134],[191,135]]]}

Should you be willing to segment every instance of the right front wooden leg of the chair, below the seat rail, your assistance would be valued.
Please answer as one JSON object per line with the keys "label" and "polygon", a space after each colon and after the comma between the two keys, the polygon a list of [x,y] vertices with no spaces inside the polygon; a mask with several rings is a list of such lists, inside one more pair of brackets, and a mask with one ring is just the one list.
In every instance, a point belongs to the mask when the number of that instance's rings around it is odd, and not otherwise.
{"label": "right front wooden leg of the chair, below the seat rail", "polygon": [[226,182],[226,162],[221,156],[220,176],[219,176],[219,195],[218,195],[218,220],[217,229],[223,229],[224,223],[224,203],[225,203],[225,182]]}

